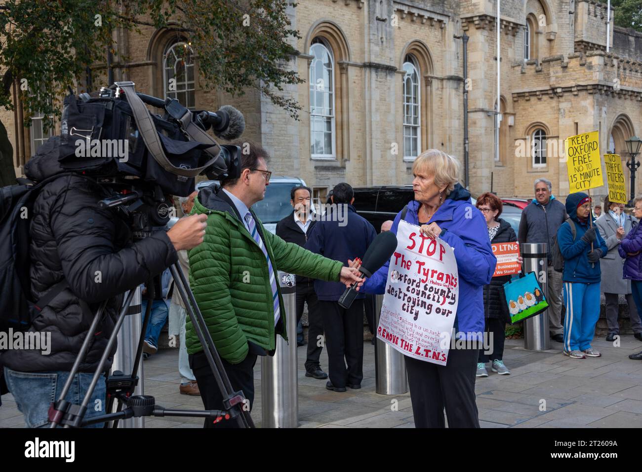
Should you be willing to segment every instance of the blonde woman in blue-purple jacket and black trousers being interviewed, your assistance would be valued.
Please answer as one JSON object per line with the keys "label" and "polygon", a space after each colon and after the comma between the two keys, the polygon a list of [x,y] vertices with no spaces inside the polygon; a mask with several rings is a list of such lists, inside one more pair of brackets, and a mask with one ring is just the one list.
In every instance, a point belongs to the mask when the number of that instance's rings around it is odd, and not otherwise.
{"label": "blonde woman in blue-purple jacket and black trousers being interviewed", "polygon": [[[458,337],[477,346],[474,341],[481,341],[484,331],[483,287],[490,282],[497,261],[485,218],[458,183],[458,171],[458,162],[443,151],[421,153],[412,166],[415,200],[397,214],[390,231],[397,233],[403,217],[421,226],[424,235],[440,237],[455,248],[460,285],[454,329]],[[361,291],[383,294],[387,280],[388,264]],[[474,391],[479,350],[462,344],[467,348],[451,346],[446,366],[405,357],[416,427],[443,428],[444,408],[449,427],[479,427]]]}

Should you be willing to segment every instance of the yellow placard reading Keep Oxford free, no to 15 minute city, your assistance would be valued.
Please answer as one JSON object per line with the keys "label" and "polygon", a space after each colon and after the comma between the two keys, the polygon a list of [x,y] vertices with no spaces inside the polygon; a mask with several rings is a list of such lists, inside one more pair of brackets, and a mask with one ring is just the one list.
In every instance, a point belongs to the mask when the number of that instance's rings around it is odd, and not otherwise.
{"label": "yellow placard reading Keep Oxford free, no to 15 minute city", "polygon": [[565,140],[569,193],[602,187],[602,163],[598,131],[571,136]]}

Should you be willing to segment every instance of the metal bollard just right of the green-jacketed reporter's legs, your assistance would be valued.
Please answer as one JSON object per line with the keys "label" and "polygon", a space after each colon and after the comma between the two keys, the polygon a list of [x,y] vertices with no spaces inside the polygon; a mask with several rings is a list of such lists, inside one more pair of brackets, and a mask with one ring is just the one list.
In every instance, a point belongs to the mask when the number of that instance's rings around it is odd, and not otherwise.
{"label": "metal bollard just right of the green-jacketed reporter's legs", "polygon": [[261,358],[261,427],[296,428],[299,426],[299,378],[295,275],[278,271],[277,276],[290,343],[277,336],[275,355]]}

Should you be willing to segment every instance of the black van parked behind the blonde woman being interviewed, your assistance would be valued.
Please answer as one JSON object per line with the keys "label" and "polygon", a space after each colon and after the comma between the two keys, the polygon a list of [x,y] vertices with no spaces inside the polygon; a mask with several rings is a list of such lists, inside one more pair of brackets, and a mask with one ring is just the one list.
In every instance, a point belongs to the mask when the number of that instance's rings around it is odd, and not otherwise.
{"label": "black van parked behind the blonde woman being interviewed", "polygon": [[374,226],[377,233],[381,231],[381,223],[394,220],[395,215],[414,199],[412,185],[354,187],[354,208]]}

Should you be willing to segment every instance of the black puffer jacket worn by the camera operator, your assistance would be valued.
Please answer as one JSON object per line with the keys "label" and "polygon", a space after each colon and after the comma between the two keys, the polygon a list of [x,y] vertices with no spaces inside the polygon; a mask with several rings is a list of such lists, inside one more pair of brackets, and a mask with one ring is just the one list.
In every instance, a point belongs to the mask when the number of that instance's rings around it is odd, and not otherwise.
{"label": "black puffer jacket worn by the camera operator", "polygon": [[[55,146],[56,138],[50,139],[26,164],[31,180],[63,172]],[[81,372],[93,372],[114,330],[123,292],[176,262],[177,253],[164,232],[131,244],[128,226],[111,210],[98,208],[103,192],[81,176],[62,176],[41,190],[31,215],[31,294],[39,299],[63,278],[69,288],[40,312],[30,328],[30,332],[51,332],[51,353],[8,350],[0,355],[0,364],[26,372],[71,370],[92,321],[92,315],[83,314],[78,298],[94,313],[101,301],[109,299],[80,364]]]}

